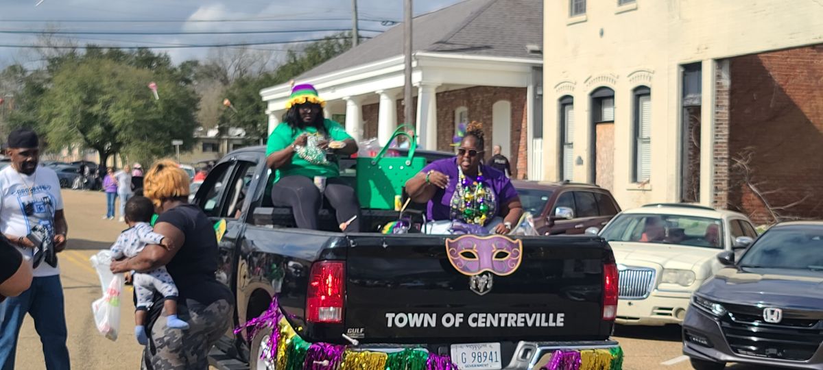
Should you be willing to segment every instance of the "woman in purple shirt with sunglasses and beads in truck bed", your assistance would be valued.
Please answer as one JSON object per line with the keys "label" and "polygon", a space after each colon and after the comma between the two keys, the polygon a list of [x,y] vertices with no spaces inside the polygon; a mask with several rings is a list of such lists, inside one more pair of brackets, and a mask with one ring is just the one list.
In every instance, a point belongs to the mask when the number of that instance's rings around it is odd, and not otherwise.
{"label": "woman in purple shirt with sunglasses and beads in truck bed", "polygon": [[435,160],[406,182],[412,201],[428,202],[430,220],[489,227],[502,217],[495,234],[509,234],[520,220],[523,205],[509,178],[481,163],[485,144],[482,123],[469,123],[456,158]]}

